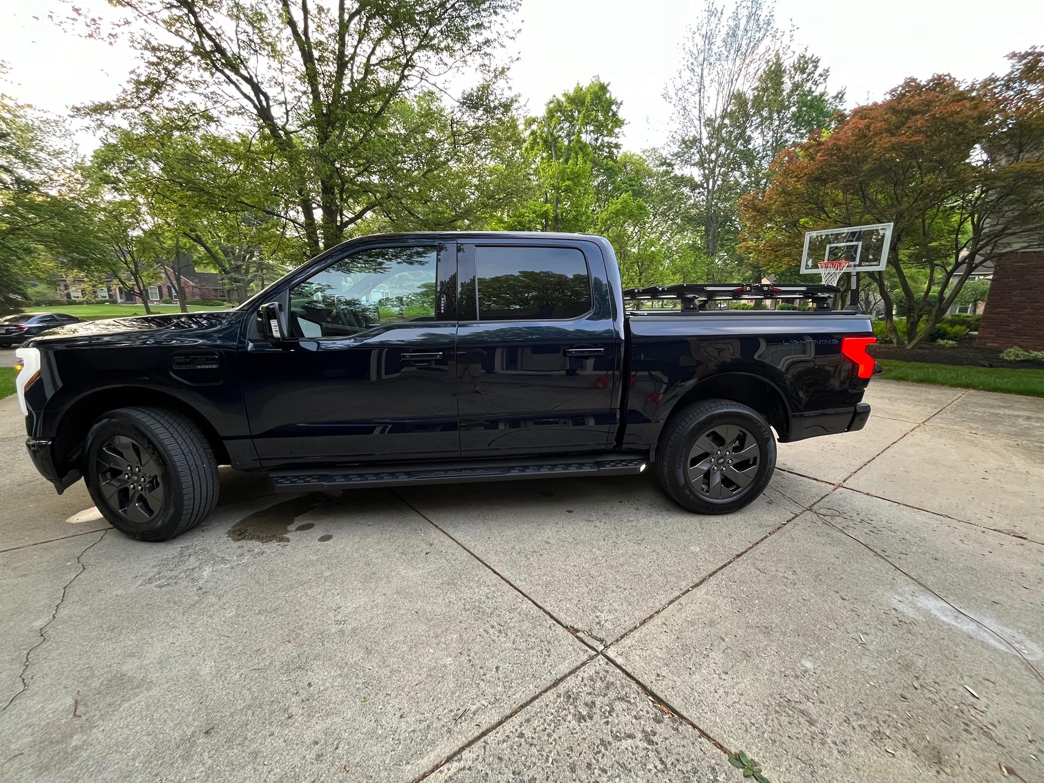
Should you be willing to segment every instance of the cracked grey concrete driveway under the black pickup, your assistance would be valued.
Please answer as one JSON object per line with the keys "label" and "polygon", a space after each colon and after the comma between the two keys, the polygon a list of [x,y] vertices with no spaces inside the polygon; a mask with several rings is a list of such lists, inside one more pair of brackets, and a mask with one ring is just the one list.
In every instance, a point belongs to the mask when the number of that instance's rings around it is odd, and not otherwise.
{"label": "cracked grey concrete driveway under the black pickup", "polygon": [[67,522],[0,401],[0,778],[1044,780],[1044,400],[869,401],[726,518],[228,474],[165,544]]}

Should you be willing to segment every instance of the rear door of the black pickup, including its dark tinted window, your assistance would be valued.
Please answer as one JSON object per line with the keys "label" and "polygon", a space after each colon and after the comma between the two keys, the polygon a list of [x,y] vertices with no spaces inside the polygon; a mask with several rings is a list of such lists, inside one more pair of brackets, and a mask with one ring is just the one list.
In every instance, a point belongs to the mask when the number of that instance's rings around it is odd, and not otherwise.
{"label": "rear door of the black pickup, including its dark tinted window", "polygon": [[451,364],[465,456],[604,451],[621,359],[597,245],[458,244]]}

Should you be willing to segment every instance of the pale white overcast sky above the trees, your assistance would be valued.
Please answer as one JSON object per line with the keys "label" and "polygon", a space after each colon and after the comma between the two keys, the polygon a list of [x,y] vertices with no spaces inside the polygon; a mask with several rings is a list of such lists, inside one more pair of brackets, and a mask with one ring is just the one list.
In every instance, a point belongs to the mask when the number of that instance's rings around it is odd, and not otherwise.
{"label": "pale white overcast sky above the trees", "polygon": [[[104,0],[80,0],[108,13]],[[47,19],[60,0],[0,0],[0,91],[60,116],[78,103],[114,97],[134,67],[123,45],[88,41]],[[624,147],[663,145],[670,112],[662,94],[678,70],[698,0],[522,0],[508,51],[515,89],[530,112],[594,76],[622,101]],[[1006,70],[1004,55],[1044,46],[1040,0],[777,0],[777,22],[830,68],[831,92],[849,105],[878,100],[906,76],[951,73],[981,78]],[[4,80],[5,79],[5,80]],[[81,152],[96,144],[80,130]]]}

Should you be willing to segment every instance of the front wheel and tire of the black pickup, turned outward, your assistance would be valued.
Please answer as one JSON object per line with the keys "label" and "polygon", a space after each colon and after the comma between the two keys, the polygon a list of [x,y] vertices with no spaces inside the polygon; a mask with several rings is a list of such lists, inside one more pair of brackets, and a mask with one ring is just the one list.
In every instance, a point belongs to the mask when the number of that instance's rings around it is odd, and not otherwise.
{"label": "front wheel and tire of the black pickup, turned outward", "polygon": [[94,504],[133,539],[172,539],[199,524],[217,503],[214,452],[176,410],[110,410],[87,435],[86,460]]}

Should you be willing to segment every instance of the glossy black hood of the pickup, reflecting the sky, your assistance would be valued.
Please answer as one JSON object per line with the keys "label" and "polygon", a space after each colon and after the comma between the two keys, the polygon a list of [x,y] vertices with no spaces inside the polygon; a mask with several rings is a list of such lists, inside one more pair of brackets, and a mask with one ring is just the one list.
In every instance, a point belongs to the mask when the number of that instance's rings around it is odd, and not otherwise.
{"label": "glossy black hood of the pickup, reflecting the sky", "polygon": [[133,315],[125,318],[88,321],[82,324],[49,329],[31,340],[33,346],[47,348],[48,343],[104,343],[127,345],[143,342],[180,342],[185,338],[195,341],[207,332],[228,329],[241,323],[243,310],[209,310],[206,312],[164,313],[162,315]]}

